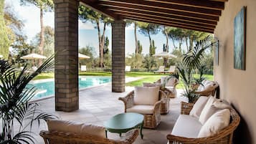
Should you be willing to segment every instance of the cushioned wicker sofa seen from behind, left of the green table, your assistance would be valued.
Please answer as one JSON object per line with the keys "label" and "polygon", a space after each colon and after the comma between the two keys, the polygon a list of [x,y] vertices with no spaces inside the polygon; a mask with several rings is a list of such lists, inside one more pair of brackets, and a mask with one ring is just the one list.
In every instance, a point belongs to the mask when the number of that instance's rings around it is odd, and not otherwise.
{"label": "cushioned wicker sofa seen from behind, left of the green table", "polygon": [[105,129],[100,126],[63,120],[47,124],[48,130],[40,132],[45,144],[131,144],[138,136],[138,130],[131,130],[121,140],[110,140],[105,138]]}

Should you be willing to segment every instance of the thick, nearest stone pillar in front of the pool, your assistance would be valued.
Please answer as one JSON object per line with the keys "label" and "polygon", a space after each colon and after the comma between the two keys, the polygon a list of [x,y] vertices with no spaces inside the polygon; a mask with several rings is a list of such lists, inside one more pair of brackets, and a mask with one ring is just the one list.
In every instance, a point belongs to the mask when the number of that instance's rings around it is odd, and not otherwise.
{"label": "thick, nearest stone pillar in front of the pool", "polygon": [[54,0],[55,13],[55,110],[79,108],[77,0]]}

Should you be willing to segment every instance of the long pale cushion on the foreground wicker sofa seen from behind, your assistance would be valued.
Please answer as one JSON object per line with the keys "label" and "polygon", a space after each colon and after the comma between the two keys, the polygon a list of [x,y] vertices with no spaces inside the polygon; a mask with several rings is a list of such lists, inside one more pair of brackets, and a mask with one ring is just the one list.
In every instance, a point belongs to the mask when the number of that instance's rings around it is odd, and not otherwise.
{"label": "long pale cushion on the foreground wicker sofa seen from behind", "polygon": [[60,131],[66,133],[77,133],[79,135],[96,135],[105,138],[105,128],[98,125],[86,125],[65,120],[47,120],[49,131]]}

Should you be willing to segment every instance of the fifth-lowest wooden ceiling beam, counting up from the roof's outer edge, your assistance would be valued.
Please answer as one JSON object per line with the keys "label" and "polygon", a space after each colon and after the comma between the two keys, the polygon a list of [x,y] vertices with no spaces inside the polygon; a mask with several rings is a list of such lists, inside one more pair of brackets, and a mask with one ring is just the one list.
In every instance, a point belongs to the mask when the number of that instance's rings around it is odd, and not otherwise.
{"label": "fifth-lowest wooden ceiling beam, counting up from the roof's outer edge", "polygon": [[100,4],[108,4],[108,5],[116,5],[121,4],[121,6],[124,7],[130,7],[130,6],[140,6],[141,8],[147,7],[147,8],[153,8],[155,11],[158,11],[158,9],[164,9],[164,10],[172,10],[172,11],[182,11],[182,12],[189,12],[193,14],[202,14],[207,16],[220,16],[222,14],[222,11],[220,10],[214,10],[214,9],[204,9],[204,8],[196,8],[192,6],[181,6],[177,4],[161,4],[153,1],[143,1],[143,0],[99,0],[98,3]]}

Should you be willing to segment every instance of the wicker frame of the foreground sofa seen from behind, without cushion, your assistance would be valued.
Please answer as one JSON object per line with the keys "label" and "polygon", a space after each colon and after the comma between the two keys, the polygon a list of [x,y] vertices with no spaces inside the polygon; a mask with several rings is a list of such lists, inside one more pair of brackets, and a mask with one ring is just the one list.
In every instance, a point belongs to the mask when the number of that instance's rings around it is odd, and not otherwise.
{"label": "wicker frame of the foreground sofa seen from behind, without cushion", "polygon": [[95,135],[77,135],[75,133],[65,133],[58,131],[46,131],[40,132],[42,138],[44,138],[45,144],[131,144],[137,136],[138,130],[131,130],[126,133],[123,140],[110,140],[108,138],[100,138]]}

